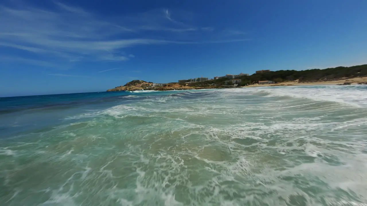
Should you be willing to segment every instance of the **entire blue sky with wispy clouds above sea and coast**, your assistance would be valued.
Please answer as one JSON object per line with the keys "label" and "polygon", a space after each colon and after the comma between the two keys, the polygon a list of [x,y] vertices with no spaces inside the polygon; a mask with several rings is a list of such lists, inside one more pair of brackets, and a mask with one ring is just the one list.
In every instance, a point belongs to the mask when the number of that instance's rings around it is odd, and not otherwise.
{"label": "entire blue sky with wispy clouds above sea and coast", "polygon": [[2,0],[0,96],[367,63],[366,0]]}

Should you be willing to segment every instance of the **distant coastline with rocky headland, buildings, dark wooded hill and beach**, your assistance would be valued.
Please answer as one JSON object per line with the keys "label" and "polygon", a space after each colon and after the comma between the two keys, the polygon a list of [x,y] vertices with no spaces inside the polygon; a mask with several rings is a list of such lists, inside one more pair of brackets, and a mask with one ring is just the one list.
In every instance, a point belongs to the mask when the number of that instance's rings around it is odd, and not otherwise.
{"label": "distant coastline with rocky headland, buildings, dark wooded hill and beach", "polygon": [[[325,83],[321,83],[325,82]],[[283,84],[282,84],[283,83]],[[338,84],[339,83],[339,84]],[[301,85],[301,84],[367,84],[367,65],[357,65],[350,67],[335,67],[327,69],[309,70],[258,70],[255,74],[248,75],[226,74],[225,76],[215,76],[214,78],[197,77],[178,82],[157,84],[142,80],[127,82],[124,86],[108,89],[108,92],[115,91],[137,91],[137,90],[184,90],[184,89],[219,89],[240,86],[257,87],[258,85]]]}

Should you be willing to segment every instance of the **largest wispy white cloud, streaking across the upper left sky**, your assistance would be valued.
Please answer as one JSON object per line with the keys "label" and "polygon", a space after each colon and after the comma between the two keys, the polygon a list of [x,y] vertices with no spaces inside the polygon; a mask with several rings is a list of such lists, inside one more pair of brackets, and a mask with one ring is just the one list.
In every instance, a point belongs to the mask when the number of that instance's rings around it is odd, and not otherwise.
{"label": "largest wispy white cloud, streaking across the upper left sky", "polygon": [[82,8],[59,2],[54,4],[56,10],[25,4],[14,7],[0,4],[0,51],[11,48],[31,52],[35,56],[33,61],[23,62],[51,67],[51,64],[47,65],[48,60],[126,61],[134,55],[121,55],[124,54],[122,50],[139,45],[215,44],[246,40],[206,36],[206,39],[216,40],[202,41],[189,37],[182,39],[182,35],[176,38],[175,33],[213,32],[214,28],[183,23],[172,18],[168,9],[118,16],[114,18],[116,20],[107,21]]}

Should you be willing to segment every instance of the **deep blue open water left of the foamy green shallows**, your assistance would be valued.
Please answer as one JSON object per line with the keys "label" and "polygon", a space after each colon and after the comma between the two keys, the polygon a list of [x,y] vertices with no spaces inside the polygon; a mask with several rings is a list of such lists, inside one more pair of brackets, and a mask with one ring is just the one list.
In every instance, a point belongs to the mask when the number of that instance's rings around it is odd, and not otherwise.
{"label": "deep blue open water left of the foamy green shallows", "polygon": [[[171,92],[154,92],[153,96]],[[134,100],[152,98],[151,92],[91,92],[57,95],[36,95],[0,98],[0,138],[9,138],[19,133],[72,123],[70,116],[103,110]],[[127,97],[127,98],[126,98]]]}

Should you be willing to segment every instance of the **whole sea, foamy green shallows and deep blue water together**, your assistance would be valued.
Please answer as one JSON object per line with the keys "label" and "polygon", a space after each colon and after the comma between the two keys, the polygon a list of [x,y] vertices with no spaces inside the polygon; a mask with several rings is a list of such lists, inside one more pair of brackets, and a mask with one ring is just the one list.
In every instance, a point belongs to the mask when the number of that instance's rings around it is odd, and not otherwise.
{"label": "whole sea, foamy green shallows and deep blue water together", "polygon": [[367,87],[0,98],[0,205],[367,206]]}

